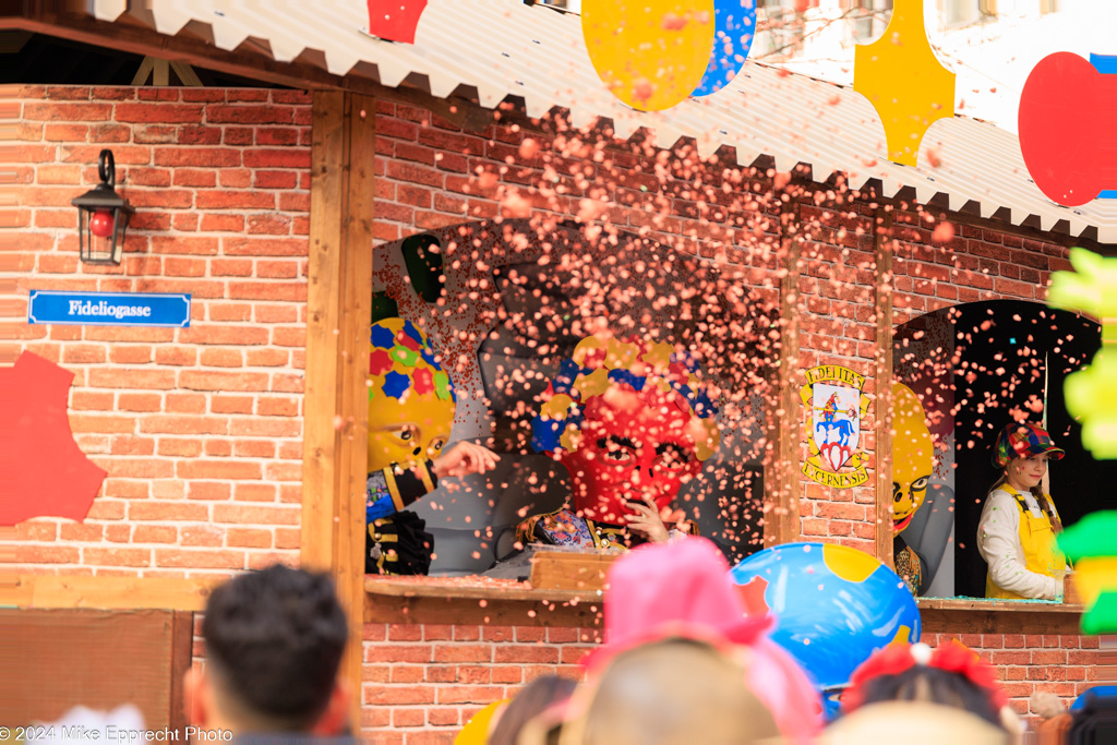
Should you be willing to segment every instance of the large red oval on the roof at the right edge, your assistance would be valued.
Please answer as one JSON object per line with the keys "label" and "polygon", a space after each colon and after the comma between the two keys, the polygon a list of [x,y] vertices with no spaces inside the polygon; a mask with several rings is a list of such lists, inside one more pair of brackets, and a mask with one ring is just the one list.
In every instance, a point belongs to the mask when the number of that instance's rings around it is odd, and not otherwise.
{"label": "large red oval on the roof at the right edge", "polygon": [[1117,75],[1057,51],[1020,94],[1020,152],[1051,201],[1078,207],[1117,189]]}

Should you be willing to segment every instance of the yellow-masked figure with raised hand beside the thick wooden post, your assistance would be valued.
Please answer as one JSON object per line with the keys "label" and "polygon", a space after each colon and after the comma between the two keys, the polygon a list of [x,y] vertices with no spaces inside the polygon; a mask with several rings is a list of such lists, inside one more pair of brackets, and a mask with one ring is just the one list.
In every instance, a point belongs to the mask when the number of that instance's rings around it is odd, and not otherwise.
{"label": "yellow-masked figure with raised hand beside the thick wooden post", "polygon": [[372,325],[365,572],[427,574],[435,539],[407,507],[432,491],[439,478],[484,474],[499,460],[472,442],[443,452],[456,401],[450,376],[410,321]]}

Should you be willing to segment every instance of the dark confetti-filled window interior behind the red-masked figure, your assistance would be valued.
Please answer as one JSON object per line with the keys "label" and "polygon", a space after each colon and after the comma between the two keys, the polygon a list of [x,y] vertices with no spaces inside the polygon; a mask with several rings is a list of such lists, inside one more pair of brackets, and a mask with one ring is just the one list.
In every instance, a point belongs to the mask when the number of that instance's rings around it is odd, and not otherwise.
{"label": "dark confetti-filled window interior behind the red-masked figure", "polygon": [[[441,308],[469,306],[472,286],[449,255],[454,245],[480,251],[470,261],[487,267],[485,286],[498,297],[493,316],[478,329],[476,365],[502,462],[484,486],[478,480],[480,494],[432,494],[416,504],[413,509],[436,536],[432,573],[484,572],[512,551],[519,520],[562,505],[570,489],[565,469],[532,449],[531,421],[561,361],[602,318],[620,337],[656,334],[688,348],[701,348],[696,340],[710,338],[714,327],[747,329],[743,333],[748,338],[719,334],[713,342],[717,354],[708,345],[703,350],[707,380],[724,391],[722,446],[704,464],[703,477],[680,491],[676,505],[703,535],[722,542],[734,555],[743,557],[761,547],[764,487],[758,442],[764,391],[758,381],[772,355],[764,336],[770,311],[744,285],[743,271],[623,231],[614,241],[598,240],[583,228],[558,223],[553,232],[541,235],[527,221],[477,222],[378,249],[399,251],[398,264],[408,281],[391,292],[421,299],[410,306],[412,313],[433,315],[445,313]],[[538,258],[543,247],[545,261]],[[581,260],[593,254],[601,254],[600,260]],[[575,259],[564,262],[565,255]],[[665,298],[672,302],[666,304]],[[407,315],[405,298],[397,299]],[[423,323],[422,317],[412,321]],[[440,340],[431,337],[431,343],[438,348]],[[458,414],[464,416],[460,403]]]}

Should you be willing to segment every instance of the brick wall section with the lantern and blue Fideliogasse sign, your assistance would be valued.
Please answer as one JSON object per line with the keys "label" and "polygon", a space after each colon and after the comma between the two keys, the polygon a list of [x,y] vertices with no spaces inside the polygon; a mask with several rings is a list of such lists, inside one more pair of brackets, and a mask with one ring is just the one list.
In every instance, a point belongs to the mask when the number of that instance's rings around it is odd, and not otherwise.
{"label": "brick wall section with the lantern and blue Fideliogasse sign", "polygon": [[[75,439],[108,471],[84,523],[18,526],[13,569],[200,576],[297,560],[308,94],[9,93],[17,240],[0,252],[0,348],[4,364],[26,350],[75,374]],[[69,204],[97,182],[103,147],[136,208],[120,267],[78,261]],[[190,293],[192,317],[28,325],[32,288]]]}

